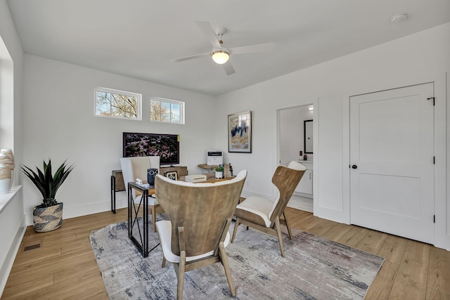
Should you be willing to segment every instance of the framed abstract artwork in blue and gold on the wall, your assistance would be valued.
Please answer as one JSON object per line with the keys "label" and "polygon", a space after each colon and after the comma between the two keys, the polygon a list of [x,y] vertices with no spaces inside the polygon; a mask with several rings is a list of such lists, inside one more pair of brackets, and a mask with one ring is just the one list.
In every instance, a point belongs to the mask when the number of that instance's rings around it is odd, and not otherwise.
{"label": "framed abstract artwork in blue and gold on the wall", "polygon": [[252,112],[228,115],[228,152],[252,152]]}

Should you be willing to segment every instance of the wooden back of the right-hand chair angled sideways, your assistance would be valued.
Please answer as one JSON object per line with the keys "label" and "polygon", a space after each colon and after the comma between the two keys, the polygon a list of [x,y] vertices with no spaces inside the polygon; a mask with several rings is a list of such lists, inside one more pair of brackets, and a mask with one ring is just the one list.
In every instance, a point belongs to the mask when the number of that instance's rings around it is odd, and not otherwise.
{"label": "wooden back of the right-hand chair angled sideways", "polygon": [[306,169],[303,164],[295,161],[290,162],[288,167],[278,166],[276,168],[274,176],[272,176],[272,183],[278,188],[278,199],[274,202],[274,208],[269,214],[271,227],[274,226],[275,217],[283,214]]}

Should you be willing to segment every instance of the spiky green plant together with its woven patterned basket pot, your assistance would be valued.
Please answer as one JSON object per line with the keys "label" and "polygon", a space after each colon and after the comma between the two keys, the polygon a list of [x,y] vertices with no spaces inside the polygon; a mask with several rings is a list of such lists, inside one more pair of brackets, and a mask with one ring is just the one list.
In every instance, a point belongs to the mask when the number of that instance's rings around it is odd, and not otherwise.
{"label": "spiky green plant together with its woven patterned basket pot", "polygon": [[66,162],[60,165],[54,175],[51,174],[50,159],[49,164],[44,160],[42,171],[36,167],[37,173],[29,167],[20,166],[42,195],[42,203],[33,209],[33,228],[39,233],[58,229],[63,224],[63,202],[56,201],[56,192],[75,167],[73,164],[68,166]]}

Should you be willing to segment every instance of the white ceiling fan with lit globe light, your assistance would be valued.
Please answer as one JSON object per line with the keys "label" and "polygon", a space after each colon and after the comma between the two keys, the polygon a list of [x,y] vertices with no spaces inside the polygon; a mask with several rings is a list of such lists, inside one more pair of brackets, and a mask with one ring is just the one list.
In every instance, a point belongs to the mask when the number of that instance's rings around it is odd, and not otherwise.
{"label": "white ceiling fan with lit globe light", "polygon": [[223,45],[222,36],[226,33],[226,28],[217,27],[216,30],[212,30],[209,22],[195,21],[195,24],[200,28],[200,30],[205,34],[208,41],[212,45],[212,51],[207,53],[195,54],[194,56],[186,56],[184,58],[177,58],[172,61],[179,63],[185,60],[192,60],[195,58],[201,58],[203,56],[212,56],[212,60],[219,65],[223,65],[227,75],[231,75],[236,71],[231,65],[229,58],[234,54],[243,53],[264,53],[273,51],[275,48],[275,43],[258,44],[251,46],[241,46],[227,48]]}

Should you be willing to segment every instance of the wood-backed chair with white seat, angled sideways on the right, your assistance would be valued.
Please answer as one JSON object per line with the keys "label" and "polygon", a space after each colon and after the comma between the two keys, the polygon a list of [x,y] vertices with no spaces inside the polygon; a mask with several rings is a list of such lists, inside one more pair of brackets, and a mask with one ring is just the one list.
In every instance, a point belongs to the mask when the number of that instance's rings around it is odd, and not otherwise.
{"label": "wood-backed chair with white seat, angled sideways on the right", "polygon": [[[306,169],[300,162],[295,161],[290,162],[288,167],[278,166],[274,176],[272,176],[272,183],[278,188],[278,197],[275,200],[250,196],[238,204],[234,212],[236,223],[231,242],[234,242],[238,226],[244,224],[263,233],[278,237],[281,256],[284,257],[280,224],[288,228],[289,237],[292,240],[293,235],[290,231],[289,221],[286,218],[284,209]],[[283,219],[281,219],[281,216],[283,216]]]}

